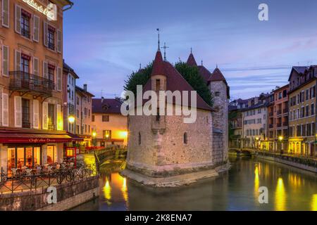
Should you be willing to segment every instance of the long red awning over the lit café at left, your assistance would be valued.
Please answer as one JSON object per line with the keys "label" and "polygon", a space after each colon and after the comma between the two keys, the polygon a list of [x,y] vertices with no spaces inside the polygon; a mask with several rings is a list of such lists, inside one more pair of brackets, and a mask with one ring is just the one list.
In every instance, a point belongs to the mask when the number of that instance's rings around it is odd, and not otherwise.
{"label": "long red awning over the lit caf\u00e9 at left", "polygon": [[0,133],[0,143],[63,143],[71,142],[66,134]]}

